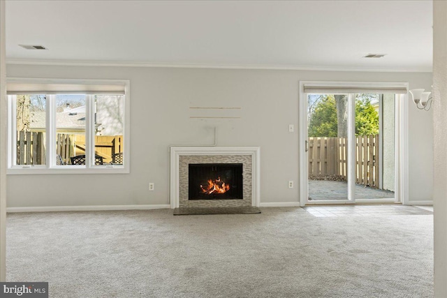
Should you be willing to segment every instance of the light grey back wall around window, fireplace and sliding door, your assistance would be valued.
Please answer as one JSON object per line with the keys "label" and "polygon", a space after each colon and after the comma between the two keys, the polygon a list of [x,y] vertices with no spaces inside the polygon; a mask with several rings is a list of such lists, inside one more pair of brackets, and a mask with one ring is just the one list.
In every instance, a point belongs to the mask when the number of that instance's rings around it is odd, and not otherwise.
{"label": "light grey back wall around window, fireplace and sliding door", "polygon": [[[431,73],[9,65],[8,77],[131,80],[131,173],[9,175],[8,207],[168,204],[171,144],[261,147],[261,202],[298,202],[298,82],[409,82]],[[191,119],[189,107],[241,107]],[[203,115],[211,114],[202,112]],[[216,112],[212,114],[216,115]],[[410,200],[432,200],[432,113],[409,107]],[[295,133],[288,133],[295,124]],[[423,173],[423,174],[421,174]],[[147,191],[149,181],[155,191]]]}

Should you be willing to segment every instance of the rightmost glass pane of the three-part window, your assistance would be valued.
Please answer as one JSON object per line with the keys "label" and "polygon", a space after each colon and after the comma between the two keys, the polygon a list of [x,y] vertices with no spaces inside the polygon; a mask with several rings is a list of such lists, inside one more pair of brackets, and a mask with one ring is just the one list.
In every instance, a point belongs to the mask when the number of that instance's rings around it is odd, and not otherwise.
{"label": "rightmost glass pane of the three-part window", "polygon": [[123,165],[124,96],[96,95],[95,155],[96,165]]}

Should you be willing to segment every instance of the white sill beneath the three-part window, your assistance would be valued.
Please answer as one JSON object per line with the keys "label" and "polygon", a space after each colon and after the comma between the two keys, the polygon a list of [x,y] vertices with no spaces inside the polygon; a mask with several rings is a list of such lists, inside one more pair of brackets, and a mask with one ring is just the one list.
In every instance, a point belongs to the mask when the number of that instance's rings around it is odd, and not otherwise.
{"label": "white sill beneath the three-part window", "polygon": [[86,168],[78,165],[62,165],[59,167],[13,167],[6,170],[8,175],[20,174],[129,174],[129,167],[123,165],[105,165],[103,167]]}

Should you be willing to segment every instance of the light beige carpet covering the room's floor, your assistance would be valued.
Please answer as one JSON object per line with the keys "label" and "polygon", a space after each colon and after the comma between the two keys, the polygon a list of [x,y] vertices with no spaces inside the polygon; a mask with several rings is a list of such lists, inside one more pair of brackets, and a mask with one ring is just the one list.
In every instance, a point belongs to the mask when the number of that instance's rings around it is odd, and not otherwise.
{"label": "light beige carpet covering the room's floor", "polygon": [[432,212],[409,208],[8,214],[7,281],[57,298],[433,297]]}

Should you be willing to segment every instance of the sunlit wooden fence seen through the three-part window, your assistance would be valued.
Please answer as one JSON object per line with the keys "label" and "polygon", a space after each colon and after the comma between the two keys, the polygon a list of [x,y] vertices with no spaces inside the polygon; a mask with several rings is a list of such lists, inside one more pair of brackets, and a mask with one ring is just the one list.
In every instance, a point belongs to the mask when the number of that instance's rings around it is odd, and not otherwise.
{"label": "sunlit wooden fence seen through the three-part window", "polygon": [[[95,136],[95,154],[103,157],[104,163],[112,161],[112,155],[124,149],[123,136]],[[56,154],[67,165],[71,157],[85,154],[85,135],[58,133]],[[17,132],[17,165],[45,164],[45,133]]]}

